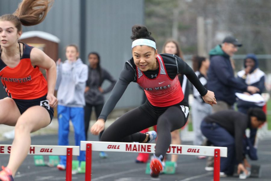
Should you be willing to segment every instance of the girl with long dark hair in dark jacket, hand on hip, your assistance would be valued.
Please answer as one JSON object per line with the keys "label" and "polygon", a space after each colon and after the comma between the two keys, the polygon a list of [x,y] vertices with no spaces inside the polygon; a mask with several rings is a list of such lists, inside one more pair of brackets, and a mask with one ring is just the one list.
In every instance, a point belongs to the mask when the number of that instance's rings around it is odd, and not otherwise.
{"label": "girl with long dark hair in dark jacket, hand on hip", "polygon": [[[88,80],[86,81],[85,89],[85,135],[86,140],[88,138],[89,130],[89,120],[92,113],[92,107],[95,109],[96,119],[100,116],[101,110],[104,106],[104,94],[110,92],[114,85],[116,84],[115,79],[110,75],[110,73],[101,68],[100,56],[97,52],[90,52],[88,55],[89,59],[89,74]],[[111,84],[106,88],[102,89],[101,85],[104,80],[108,80]],[[99,134],[99,139],[101,138],[102,132]],[[107,154],[100,152],[101,158],[106,158]]]}

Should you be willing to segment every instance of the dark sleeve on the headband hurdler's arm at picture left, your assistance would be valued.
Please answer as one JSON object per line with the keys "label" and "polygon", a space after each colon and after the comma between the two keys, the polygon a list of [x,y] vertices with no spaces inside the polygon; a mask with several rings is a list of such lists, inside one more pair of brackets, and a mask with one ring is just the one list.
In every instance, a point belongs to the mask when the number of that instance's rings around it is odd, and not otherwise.
{"label": "dark sleeve on the headband hurdler's arm at picture left", "polygon": [[132,82],[134,79],[135,73],[132,71],[132,69],[129,69],[129,65],[128,66],[125,65],[124,69],[120,72],[119,80],[117,81],[113,90],[111,91],[111,94],[106,103],[104,104],[104,107],[98,119],[104,120],[107,119],[107,116],[114,109],[114,107],[120,100],[129,83]]}

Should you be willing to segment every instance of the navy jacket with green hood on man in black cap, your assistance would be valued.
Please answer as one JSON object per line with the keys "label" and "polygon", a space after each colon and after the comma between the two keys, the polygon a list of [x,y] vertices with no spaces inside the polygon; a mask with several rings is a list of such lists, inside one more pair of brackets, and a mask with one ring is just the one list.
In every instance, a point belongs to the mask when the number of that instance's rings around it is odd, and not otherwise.
{"label": "navy jacket with green hood on man in black cap", "polygon": [[210,67],[207,73],[207,88],[214,92],[217,101],[221,100],[233,105],[236,101],[236,90],[244,92],[248,86],[234,77],[230,57],[220,45],[210,50],[209,55]]}

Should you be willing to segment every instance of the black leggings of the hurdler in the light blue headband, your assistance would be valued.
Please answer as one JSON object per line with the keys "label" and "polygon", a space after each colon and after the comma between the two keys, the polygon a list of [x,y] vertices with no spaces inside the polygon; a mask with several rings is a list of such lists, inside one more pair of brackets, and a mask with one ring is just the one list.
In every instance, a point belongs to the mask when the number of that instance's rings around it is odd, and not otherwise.
{"label": "black leggings of the hurdler in the light blue headband", "polygon": [[171,143],[170,132],[180,129],[185,125],[188,117],[188,107],[185,113],[181,106],[169,107],[152,106],[148,100],[145,104],[137,107],[112,123],[101,136],[101,141],[113,142],[142,142],[146,134],[141,130],[157,125],[157,142],[155,155],[164,156]]}

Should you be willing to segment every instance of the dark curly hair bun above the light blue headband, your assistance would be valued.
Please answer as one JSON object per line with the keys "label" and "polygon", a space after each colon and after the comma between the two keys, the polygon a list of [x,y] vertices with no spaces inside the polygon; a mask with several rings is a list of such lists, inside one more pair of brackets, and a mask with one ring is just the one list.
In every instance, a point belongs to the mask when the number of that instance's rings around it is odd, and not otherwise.
{"label": "dark curly hair bun above the light blue headband", "polygon": [[132,27],[132,33],[133,35],[130,37],[133,41],[137,40],[137,39],[148,39],[148,40],[152,40],[155,42],[154,38],[151,37],[151,32],[149,32],[147,30],[147,27],[145,27],[144,25],[134,25]]}

